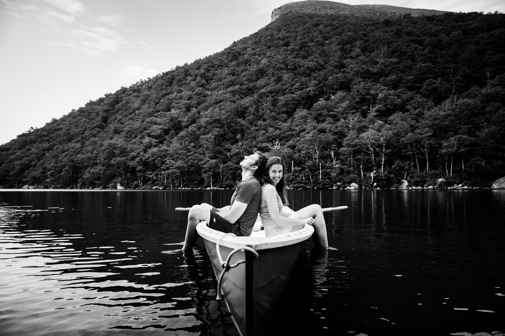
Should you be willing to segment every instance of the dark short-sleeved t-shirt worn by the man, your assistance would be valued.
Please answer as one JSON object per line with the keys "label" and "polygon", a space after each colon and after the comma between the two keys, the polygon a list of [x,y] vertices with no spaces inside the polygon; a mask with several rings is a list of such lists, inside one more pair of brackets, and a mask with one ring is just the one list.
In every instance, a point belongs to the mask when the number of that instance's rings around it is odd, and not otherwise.
{"label": "dark short-sleeved t-shirt worn by the man", "polygon": [[244,213],[235,222],[235,234],[249,236],[258,217],[261,202],[261,184],[256,177],[250,177],[238,185],[231,197],[231,204],[235,201],[247,204]]}

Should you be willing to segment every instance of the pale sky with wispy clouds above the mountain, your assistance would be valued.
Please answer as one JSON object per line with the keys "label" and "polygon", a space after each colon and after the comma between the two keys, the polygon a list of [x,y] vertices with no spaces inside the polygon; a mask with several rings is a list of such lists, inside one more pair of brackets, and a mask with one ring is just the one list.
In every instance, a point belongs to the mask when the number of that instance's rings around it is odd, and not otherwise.
{"label": "pale sky with wispy clouds above the mountain", "polygon": [[[0,145],[121,86],[218,53],[292,0],[0,0]],[[342,0],[502,12],[505,0]]]}

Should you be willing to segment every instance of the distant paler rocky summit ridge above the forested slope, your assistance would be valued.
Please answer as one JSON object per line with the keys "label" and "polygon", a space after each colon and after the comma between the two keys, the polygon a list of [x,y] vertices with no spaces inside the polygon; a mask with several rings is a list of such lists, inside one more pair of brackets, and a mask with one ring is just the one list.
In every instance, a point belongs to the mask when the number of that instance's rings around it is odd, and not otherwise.
{"label": "distant paler rocky summit ridge above the forested slope", "polygon": [[347,5],[333,1],[301,1],[289,3],[272,11],[272,21],[286,13],[317,13],[317,14],[340,14],[354,16],[396,16],[403,14],[419,15],[440,15],[446,12],[395,7],[388,5]]}

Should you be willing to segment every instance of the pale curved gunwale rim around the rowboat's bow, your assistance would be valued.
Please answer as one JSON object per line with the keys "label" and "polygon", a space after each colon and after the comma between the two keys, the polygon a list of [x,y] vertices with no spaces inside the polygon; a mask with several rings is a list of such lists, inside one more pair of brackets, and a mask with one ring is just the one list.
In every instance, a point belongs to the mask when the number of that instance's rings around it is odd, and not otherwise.
{"label": "pale curved gunwale rim around the rowboat's bow", "polygon": [[[203,221],[196,225],[196,232],[210,242],[217,243],[225,233],[214,230],[207,226],[207,222]],[[248,246],[255,250],[267,250],[287,245],[293,245],[302,241],[306,241],[314,233],[314,227],[310,224],[305,224],[304,228],[298,231],[279,234],[273,237],[251,237],[251,236],[226,236],[221,239],[222,246],[230,249],[238,249],[243,246]]]}

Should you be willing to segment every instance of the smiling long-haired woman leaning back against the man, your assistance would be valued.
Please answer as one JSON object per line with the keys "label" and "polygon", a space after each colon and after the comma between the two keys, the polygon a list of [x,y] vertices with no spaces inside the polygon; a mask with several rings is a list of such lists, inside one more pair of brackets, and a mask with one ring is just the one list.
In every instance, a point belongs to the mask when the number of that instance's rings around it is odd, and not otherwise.
{"label": "smiling long-haired woman leaning back against the man", "polygon": [[307,223],[314,226],[314,244],[328,248],[321,206],[313,204],[293,214],[282,211],[283,205],[288,205],[288,202],[284,188],[284,163],[280,157],[273,156],[267,160],[262,183],[260,217],[267,237],[300,230]]}

